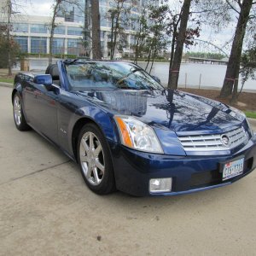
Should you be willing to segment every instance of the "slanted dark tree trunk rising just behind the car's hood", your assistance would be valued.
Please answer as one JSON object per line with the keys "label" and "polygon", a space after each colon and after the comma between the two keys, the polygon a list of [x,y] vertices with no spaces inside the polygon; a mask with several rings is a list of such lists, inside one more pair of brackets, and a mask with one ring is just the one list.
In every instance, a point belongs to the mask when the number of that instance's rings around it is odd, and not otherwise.
{"label": "slanted dark tree trunk rising just behind the car's hood", "polygon": [[[176,49],[173,56],[173,62],[170,64],[168,87],[177,89],[177,80],[179,75],[180,64],[183,55],[183,45],[186,40],[186,32],[189,20],[189,9],[192,0],[184,0],[180,15],[180,26],[177,32]],[[171,67],[172,65],[172,67]]]}

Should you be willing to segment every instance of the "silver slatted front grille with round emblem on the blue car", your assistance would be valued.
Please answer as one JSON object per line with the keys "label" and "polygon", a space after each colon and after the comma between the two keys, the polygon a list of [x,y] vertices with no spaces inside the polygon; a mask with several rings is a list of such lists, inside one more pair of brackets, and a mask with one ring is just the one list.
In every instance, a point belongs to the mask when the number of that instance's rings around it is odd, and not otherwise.
{"label": "silver slatted front grille with round emblem on the blue car", "polygon": [[[229,138],[229,143],[224,145],[224,138],[226,139],[227,137]],[[240,127],[221,134],[179,136],[178,139],[185,151],[227,150],[236,148],[241,143],[246,142],[247,133],[243,127]]]}

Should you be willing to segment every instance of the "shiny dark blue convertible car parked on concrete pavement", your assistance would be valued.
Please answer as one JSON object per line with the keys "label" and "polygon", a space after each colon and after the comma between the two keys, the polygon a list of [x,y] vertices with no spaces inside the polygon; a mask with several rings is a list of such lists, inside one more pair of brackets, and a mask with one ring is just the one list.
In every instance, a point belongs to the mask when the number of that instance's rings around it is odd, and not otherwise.
{"label": "shiny dark blue convertible car parked on concrete pavement", "polygon": [[131,63],[67,60],[42,75],[19,73],[12,102],[16,127],[32,127],[77,161],[97,194],[212,189],[256,165],[256,137],[243,113],[166,90]]}

